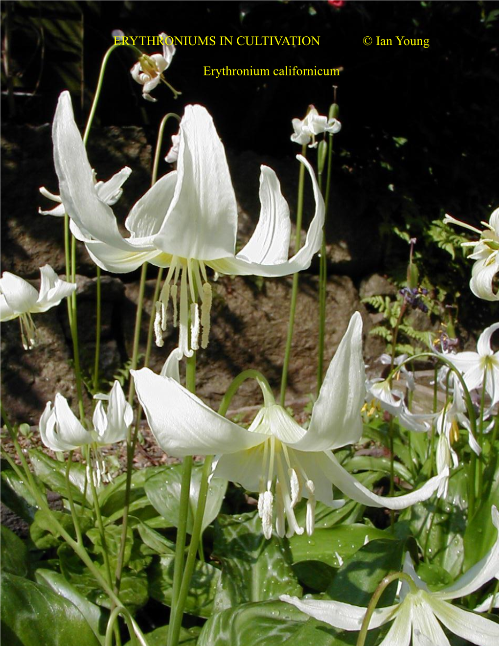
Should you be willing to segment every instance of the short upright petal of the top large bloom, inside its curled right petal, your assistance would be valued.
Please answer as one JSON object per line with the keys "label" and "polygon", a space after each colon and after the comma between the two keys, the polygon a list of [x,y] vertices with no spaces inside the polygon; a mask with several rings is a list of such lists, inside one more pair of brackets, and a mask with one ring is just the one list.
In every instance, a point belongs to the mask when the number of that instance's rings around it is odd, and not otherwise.
{"label": "short upright petal of the top large bloom, inside its curled right petal", "polygon": [[268,166],[261,166],[260,203],[260,219],[249,242],[239,251],[238,258],[265,265],[286,262],[291,230],[289,206],[281,193],[276,173]]}

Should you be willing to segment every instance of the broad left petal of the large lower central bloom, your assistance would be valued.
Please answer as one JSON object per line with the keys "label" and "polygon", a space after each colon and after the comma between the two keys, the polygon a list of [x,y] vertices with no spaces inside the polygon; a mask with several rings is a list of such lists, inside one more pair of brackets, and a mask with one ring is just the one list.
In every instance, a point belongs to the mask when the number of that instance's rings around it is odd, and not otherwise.
{"label": "broad left petal of the large lower central bloom", "polygon": [[218,415],[174,379],[148,368],[132,370],[132,375],[150,429],[169,455],[236,453],[268,437]]}

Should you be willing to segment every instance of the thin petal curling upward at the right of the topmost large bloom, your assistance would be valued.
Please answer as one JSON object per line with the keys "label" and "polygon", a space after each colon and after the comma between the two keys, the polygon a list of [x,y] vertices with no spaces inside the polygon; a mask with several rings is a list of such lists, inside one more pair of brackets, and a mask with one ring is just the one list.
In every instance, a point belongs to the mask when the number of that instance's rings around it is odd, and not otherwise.
{"label": "thin petal curling upward at the right of the topmost large bloom", "polygon": [[314,189],[314,198],[316,202],[316,211],[312,219],[309,231],[307,232],[307,239],[305,244],[301,247],[300,251],[292,258],[285,262],[280,262],[274,265],[259,264],[258,262],[250,262],[242,256],[219,256],[218,260],[211,260],[208,264],[214,271],[221,274],[235,274],[239,276],[287,276],[294,274],[297,271],[308,269],[312,262],[312,256],[319,251],[322,241],[322,227],[324,224],[324,200],[319,191],[319,186],[309,162],[301,155],[297,156],[309,171],[312,179],[312,187]]}

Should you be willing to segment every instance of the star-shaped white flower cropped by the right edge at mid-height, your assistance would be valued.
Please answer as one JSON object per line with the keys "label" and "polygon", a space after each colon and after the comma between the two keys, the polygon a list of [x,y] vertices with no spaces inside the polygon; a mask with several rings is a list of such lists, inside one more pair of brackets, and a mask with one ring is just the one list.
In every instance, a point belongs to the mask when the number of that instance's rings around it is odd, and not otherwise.
{"label": "star-shaped white flower cropped by the right edge at mid-height", "polygon": [[476,342],[476,352],[458,352],[445,355],[462,373],[468,390],[484,386],[491,398],[491,406],[499,402],[499,351],[491,348],[491,337],[499,323],[485,328]]}

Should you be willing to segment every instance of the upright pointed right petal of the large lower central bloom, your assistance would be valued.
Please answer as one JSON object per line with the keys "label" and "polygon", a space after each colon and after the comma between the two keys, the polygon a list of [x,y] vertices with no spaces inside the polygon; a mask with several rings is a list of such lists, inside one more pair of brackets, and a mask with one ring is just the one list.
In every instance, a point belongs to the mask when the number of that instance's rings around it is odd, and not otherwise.
{"label": "upright pointed right petal of the large lower central bloom", "polygon": [[325,451],[356,443],[362,435],[364,398],[362,318],[355,312],[327,369],[307,435],[293,448]]}

